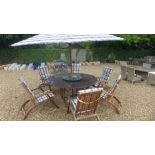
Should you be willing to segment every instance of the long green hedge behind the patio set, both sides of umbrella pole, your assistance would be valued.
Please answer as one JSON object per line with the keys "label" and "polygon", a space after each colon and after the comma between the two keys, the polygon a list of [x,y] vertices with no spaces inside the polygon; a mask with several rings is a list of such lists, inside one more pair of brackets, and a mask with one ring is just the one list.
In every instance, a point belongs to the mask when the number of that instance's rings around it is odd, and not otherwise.
{"label": "long green hedge behind the patio set, both sides of umbrella pole", "polygon": [[[92,51],[92,54],[89,52]],[[0,49],[0,64],[8,63],[32,63],[50,62],[60,59],[60,54],[65,53],[66,61],[69,60],[69,49],[58,48],[8,48]],[[128,60],[132,58],[143,58],[144,56],[155,55],[154,51],[148,49],[131,49],[120,46],[106,46],[88,50],[86,61],[101,61],[113,63],[117,60]]]}

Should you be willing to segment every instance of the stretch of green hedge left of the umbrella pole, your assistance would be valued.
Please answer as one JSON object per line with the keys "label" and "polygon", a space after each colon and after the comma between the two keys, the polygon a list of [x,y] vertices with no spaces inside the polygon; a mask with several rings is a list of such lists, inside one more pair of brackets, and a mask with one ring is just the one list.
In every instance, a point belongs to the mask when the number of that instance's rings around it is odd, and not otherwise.
{"label": "stretch of green hedge left of the umbrella pole", "polygon": [[31,63],[31,62],[49,62],[60,59],[60,54],[65,53],[66,60],[69,57],[68,49],[3,49],[0,50],[0,63]]}

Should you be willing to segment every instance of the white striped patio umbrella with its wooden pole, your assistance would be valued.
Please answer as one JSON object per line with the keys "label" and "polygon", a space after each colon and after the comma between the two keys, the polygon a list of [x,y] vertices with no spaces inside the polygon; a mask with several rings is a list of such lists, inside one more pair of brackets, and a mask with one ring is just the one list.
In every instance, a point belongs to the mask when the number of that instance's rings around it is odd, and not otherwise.
{"label": "white striped patio umbrella with its wooden pole", "polygon": [[67,43],[70,49],[70,64],[72,65],[72,46],[71,46],[72,44],[81,42],[122,41],[122,40],[124,39],[110,34],[89,34],[89,35],[40,34],[14,43],[11,46],[15,47],[15,46],[37,45],[37,44]]}

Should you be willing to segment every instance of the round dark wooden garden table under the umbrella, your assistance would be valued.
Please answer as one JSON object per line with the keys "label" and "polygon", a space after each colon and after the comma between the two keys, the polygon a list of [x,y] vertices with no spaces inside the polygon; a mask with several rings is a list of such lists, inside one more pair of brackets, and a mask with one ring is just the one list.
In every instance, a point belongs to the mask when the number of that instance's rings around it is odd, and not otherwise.
{"label": "round dark wooden garden table under the umbrella", "polygon": [[[64,76],[70,76],[73,74],[80,75],[81,80],[67,81],[63,79]],[[76,89],[88,88],[89,86],[92,86],[97,82],[97,78],[90,74],[66,73],[66,74],[53,75],[49,78],[48,81],[49,85],[60,89],[60,95],[62,98],[64,98],[64,89],[76,90]]]}

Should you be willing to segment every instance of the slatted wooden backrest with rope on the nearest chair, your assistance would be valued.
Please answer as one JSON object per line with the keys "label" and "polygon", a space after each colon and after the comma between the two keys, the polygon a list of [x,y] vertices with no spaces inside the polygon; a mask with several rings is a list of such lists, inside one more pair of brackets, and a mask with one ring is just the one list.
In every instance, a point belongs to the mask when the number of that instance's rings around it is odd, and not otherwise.
{"label": "slatted wooden backrest with rope on the nearest chair", "polygon": [[102,88],[92,88],[78,91],[75,114],[95,113],[102,90]]}

